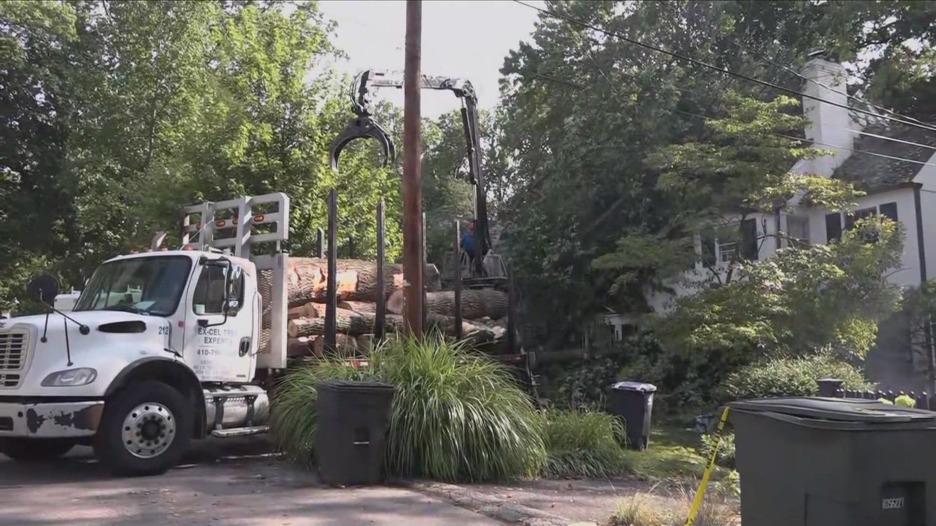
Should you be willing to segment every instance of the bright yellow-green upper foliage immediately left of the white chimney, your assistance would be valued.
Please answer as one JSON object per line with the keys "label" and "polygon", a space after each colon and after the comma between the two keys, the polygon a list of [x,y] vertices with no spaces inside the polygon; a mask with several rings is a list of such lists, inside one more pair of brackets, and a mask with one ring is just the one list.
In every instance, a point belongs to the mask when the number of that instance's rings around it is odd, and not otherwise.
{"label": "bright yellow-green upper foliage immediately left of the white chimney", "polygon": [[859,195],[851,183],[790,172],[797,160],[821,153],[781,136],[808,123],[789,112],[799,101],[787,96],[764,101],[727,90],[721,95],[722,115],[706,120],[705,131],[648,158],[661,170],[657,186],[694,219],[724,221],[726,213],[743,217],[783,210],[797,193],[839,210]]}

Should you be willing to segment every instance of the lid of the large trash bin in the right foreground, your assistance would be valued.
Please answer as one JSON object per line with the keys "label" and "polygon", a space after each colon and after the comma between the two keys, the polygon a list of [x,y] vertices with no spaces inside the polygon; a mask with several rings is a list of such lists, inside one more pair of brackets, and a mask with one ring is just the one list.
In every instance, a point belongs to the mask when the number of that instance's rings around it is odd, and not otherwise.
{"label": "lid of the large trash bin in the right foreground", "polygon": [[874,400],[790,397],[764,398],[729,402],[728,407],[753,413],[779,413],[841,422],[890,424],[926,422],[936,419],[936,412]]}

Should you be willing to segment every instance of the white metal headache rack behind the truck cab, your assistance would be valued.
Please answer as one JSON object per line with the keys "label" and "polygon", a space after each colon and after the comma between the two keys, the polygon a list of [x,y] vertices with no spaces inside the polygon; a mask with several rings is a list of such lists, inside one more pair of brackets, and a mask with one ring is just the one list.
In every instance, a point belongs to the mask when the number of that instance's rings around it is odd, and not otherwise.
{"label": "white metal headache rack behind the truck cab", "polygon": [[283,243],[288,240],[289,197],[282,192],[204,202],[183,209],[183,250],[225,252],[250,259],[256,265],[262,302],[258,368],[286,366],[288,256]]}

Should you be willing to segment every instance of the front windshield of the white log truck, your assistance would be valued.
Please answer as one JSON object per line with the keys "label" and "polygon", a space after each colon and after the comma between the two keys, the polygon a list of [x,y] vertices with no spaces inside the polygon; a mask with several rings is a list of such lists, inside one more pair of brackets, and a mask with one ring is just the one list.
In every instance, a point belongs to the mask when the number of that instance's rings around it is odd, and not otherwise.
{"label": "front windshield of the white log truck", "polygon": [[192,260],[186,256],[133,257],[95,270],[75,311],[127,311],[168,316],[179,305]]}

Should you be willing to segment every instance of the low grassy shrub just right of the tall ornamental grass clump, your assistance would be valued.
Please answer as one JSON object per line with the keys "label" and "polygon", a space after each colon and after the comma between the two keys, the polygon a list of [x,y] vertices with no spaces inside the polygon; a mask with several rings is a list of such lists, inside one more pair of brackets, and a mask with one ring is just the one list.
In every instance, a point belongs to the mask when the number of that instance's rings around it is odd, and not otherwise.
{"label": "low grassy shrub just right of the tall ornamental grass clump", "polygon": [[545,422],[548,478],[610,477],[629,471],[624,429],[615,416],[593,411],[549,411]]}

